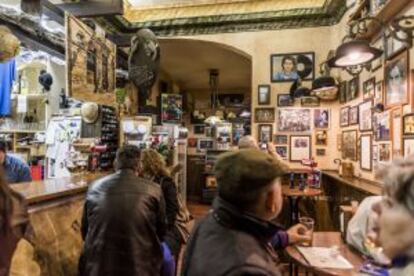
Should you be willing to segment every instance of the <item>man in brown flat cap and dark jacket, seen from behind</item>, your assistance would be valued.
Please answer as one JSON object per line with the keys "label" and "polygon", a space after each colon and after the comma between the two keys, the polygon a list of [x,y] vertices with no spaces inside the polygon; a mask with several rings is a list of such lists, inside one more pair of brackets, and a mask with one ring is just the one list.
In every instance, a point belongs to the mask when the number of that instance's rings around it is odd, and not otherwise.
{"label": "man in brown flat cap and dark jacket, seen from behind", "polygon": [[280,275],[272,246],[280,230],[280,178],[286,167],[259,150],[223,154],[215,175],[213,210],[193,230],[183,275]]}

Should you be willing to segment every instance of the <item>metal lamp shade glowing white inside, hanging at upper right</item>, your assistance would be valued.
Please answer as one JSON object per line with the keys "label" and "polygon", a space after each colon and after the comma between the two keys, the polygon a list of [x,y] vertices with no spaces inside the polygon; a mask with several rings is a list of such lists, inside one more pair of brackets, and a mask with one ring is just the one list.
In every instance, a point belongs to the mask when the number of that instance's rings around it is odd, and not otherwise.
{"label": "metal lamp shade glowing white inside, hanging at upper right", "polygon": [[367,41],[345,42],[336,49],[336,55],[328,61],[329,67],[348,67],[365,64],[379,58],[382,50],[371,47]]}

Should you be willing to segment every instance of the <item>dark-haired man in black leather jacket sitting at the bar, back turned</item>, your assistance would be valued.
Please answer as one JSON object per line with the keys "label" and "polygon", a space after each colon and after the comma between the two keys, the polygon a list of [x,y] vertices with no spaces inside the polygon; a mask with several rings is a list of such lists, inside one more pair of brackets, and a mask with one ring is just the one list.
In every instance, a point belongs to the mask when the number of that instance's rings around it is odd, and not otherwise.
{"label": "dark-haired man in black leather jacket sitting at the bar, back turned", "polygon": [[80,275],[160,275],[165,202],[159,185],[138,177],[139,149],[116,154],[116,173],[89,188],[82,218]]}

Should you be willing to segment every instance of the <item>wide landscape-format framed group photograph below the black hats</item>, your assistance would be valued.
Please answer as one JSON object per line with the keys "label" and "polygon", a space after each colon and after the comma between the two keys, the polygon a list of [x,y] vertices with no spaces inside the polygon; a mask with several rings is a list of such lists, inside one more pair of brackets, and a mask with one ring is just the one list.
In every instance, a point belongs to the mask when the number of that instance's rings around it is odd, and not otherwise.
{"label": "wide landscape-format framed group photograph below the black hats", "polygon": [[278,110],[277,127],[280,132],[310,131],[311,124],[310,109],[283,108]]}

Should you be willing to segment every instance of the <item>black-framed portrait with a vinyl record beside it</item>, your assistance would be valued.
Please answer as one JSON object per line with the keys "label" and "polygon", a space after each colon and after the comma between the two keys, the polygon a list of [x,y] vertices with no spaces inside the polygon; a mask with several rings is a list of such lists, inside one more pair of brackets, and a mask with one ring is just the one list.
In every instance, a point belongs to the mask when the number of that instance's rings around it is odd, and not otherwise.
{"label": "black-framed portrait with a vinyl record beside it", "polygon": [[315,77],[315,53],[287,53],[270,56],[270,80],[272,82],[313,80]]}

